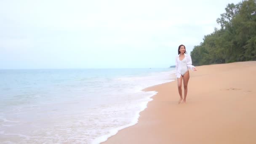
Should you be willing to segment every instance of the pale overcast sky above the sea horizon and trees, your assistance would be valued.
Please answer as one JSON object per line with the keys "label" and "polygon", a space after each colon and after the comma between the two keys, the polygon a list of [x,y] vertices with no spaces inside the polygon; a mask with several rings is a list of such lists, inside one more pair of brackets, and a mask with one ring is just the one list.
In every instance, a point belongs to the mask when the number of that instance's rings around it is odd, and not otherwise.
{"label": "pale overcast sky above the sea horizon and trees", "polygon": [[1,0],[0,69],[157,68],[241,0]]}

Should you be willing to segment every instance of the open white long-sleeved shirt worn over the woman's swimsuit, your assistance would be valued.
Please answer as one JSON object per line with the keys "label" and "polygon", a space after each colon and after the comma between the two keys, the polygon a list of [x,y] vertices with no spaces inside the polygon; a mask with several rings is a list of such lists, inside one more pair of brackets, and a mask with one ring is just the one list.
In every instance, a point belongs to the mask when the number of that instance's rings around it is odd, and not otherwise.
{"label": "open white long-sleeved shirt worn over the woman's swimsuit", "polygon": [[[177,78],[181,77],[181,61],[179,60],[179,55],[176,56],[176,59],[175,59],[175,69],[176,69],[176,77]],[[186,61],[187,61],[187,67],[189,69],[193,70],[193,67],[195,67],[195,66],[192,65],[191,56],[186,53],[184,53],[184,55],[185,55],[184,59],[186,59]]]}

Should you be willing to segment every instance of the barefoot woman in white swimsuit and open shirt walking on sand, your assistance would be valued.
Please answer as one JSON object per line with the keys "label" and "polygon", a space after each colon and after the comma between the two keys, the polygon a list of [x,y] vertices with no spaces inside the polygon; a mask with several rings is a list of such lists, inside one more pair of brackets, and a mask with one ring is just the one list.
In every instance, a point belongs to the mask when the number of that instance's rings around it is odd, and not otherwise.
{"label": "barefoot woman in white swimsuit and open shirt walking on sand", "polygon": [[[187,97],[187,84],[189,82],[189,69],[197,70],[195,66],[192,65],[191,57],[186,52],[186,47],[184,45],[180,45],[178,49],[178,56],[176,56],[175,59],[175,65],[176,65],[176,77],[178,81],[178,90],[179,90],[179,104],[183,100],[184,103],[186,103],[186,97]],[[182,79],[184,84],[184,99],[182,97]]]}

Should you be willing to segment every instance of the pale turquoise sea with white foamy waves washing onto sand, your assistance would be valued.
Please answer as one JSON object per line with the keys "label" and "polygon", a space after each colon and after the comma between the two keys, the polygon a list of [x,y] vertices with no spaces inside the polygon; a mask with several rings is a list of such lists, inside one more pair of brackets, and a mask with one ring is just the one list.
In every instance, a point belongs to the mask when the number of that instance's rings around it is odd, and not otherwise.
{"label": "pale turquoise sea with white foamy waves washing onto sand", "polygon": [[137,123],[174,69],[0,70],[1,144],[99,144]]}

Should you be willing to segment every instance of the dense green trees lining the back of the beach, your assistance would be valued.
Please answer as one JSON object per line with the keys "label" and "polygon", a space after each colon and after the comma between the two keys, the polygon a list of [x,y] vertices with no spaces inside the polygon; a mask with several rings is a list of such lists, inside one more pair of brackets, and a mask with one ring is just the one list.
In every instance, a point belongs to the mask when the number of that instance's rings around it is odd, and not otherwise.
{"label": "dense green trees lining the back of the beach", "polygon": [[256,60],[256,0],[231,3],[225,10],[216,20],[221,28],[191,51],[193,65]]}

